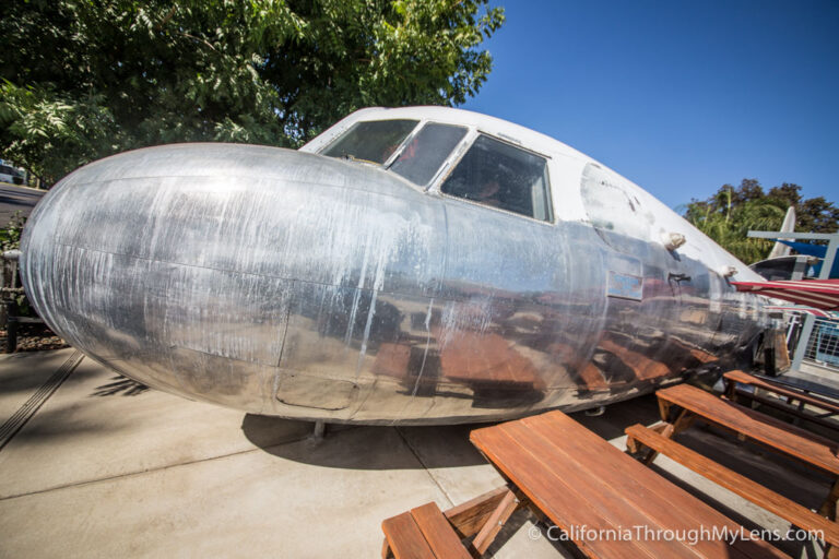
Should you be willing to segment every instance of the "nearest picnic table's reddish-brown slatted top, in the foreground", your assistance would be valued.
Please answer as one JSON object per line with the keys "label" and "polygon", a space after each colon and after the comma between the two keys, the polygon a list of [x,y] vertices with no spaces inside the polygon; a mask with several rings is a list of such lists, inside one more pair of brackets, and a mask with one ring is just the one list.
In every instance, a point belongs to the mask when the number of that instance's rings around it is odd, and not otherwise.
{"label": "nearest picnic table's reddish-brown slatted top, in the foreground", "polygon": [[476,429],[470,439],[589,557],[785,557],[763,540],[652,536],[743,528],[560,412]]}

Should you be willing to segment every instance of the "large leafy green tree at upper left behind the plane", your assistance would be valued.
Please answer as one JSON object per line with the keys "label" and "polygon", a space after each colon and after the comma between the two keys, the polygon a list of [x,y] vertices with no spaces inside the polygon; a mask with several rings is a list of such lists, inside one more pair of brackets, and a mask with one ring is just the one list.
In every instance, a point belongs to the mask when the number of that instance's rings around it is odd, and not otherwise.
{"label": "large leafy green tree at upper left behind the plane", "polygon": [[457,105],[492,69],[488,0],[7,0],[5,158],[54,181],[181,141],[296,146],[371,105]]}

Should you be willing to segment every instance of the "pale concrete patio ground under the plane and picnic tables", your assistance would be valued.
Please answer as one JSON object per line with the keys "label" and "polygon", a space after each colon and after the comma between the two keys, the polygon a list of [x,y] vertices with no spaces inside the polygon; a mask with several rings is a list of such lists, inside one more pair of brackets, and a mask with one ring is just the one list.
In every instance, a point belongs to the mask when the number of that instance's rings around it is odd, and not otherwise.
{"label": "pale concrete patio ground under the plane and picnic tables", "polygon": [[[378,557],[381,521],[503,480],[470,426],[336,427],[189,402],[73,349],[0,357],[0,557]],[[74,360],[75,359],[75,360]],[[575,418],[624,449],[653,397]],[[709,428],[680,442],[815,508],[829,479]],[[665,457],[660,473],[747,527],[789,523]],[[574,557],[517,513],[495,557]],[[818,546],[785,544],[796,557]]]}

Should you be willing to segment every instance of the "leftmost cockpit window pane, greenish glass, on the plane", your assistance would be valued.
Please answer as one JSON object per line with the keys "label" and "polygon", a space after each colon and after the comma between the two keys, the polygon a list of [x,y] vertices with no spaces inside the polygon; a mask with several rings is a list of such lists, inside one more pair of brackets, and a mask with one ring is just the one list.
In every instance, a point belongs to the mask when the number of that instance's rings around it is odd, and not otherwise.
{"label": "leftmost cockpit window pane, greenish glass, on the plane", "polygon": [[352,157],[383,165],[417,122],[417,120],[357,122],[327,147],[323,155]]}

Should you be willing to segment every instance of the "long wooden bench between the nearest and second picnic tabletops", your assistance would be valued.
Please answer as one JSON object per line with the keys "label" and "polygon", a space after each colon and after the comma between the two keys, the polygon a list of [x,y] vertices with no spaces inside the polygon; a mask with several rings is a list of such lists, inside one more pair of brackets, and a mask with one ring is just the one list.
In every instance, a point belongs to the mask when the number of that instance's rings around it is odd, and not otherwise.
{"label": "long wooden bench between the nearest and second picnic tabletops", "polygon": [[839,545],[839,525],[816,514],[806,507],[778,495],[771,489],[768,489],[642,425],[627,427],[626,435],[641,444],[671,457],[675,462],[693,469],[697,474],[702,475],[725,489],[729,489],[755,504],[759,504],[769,512],[790,521],[796,526],[805,530],[822,531],[826,542],[835,546]]}

